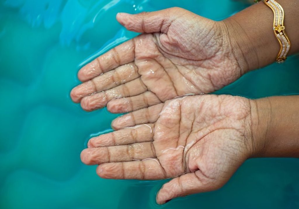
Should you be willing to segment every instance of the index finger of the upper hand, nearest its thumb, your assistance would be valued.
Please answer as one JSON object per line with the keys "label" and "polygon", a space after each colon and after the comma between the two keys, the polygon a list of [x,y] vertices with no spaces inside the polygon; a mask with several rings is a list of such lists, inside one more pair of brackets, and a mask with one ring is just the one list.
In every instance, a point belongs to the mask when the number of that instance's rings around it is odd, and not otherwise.
{"label": "index finger of the upper hand, nearest its thumb", "polygon": [[78,78],[85,82],[120,65],[132,62],[134,57],[134,42],[131,39],[83,66],[78,72]]}

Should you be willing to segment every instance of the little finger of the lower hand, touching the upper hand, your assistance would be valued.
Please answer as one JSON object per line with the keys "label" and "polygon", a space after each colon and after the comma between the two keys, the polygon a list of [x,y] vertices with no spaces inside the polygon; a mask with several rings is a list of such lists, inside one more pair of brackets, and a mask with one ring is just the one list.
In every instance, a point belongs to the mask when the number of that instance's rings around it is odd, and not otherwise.
{"label": "little finger of the lower hand, touching the upper hand", "polygon": [[114,119],[111,123],[113,129],[118,130],[124,127],[131,127],[143,123],[155,123],[163,107],[163,103],[150,106],[122,115]]}

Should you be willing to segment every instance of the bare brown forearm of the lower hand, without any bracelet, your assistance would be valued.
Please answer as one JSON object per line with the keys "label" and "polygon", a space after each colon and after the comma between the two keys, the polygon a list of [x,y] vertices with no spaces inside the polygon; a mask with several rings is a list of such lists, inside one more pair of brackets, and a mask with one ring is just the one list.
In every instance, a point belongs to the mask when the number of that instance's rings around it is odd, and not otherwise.
{"label": "bare brown forearm of the lower hand, without any bracelet", "polygon": [[251,100],[253,157],[299,158],[299,95]]}

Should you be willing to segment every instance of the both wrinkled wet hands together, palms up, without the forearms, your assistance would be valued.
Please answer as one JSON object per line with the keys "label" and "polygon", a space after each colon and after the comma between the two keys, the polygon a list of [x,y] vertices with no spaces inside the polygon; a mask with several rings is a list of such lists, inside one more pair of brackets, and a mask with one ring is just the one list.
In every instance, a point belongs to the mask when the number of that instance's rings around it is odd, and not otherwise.
{"label": "both wrinkled wet hands together, palms up, without the forearms", "polygon": [[[109,179],[167,179],[156,200],[215,190],[254,153],[251,104],[213,92],[248,71],[224,22],[187,10],[119,13],[143,33],[80,69],[71,91],[86,111],[130,112],[81,153]],[[247,67],[246,67],[247,66]]]}

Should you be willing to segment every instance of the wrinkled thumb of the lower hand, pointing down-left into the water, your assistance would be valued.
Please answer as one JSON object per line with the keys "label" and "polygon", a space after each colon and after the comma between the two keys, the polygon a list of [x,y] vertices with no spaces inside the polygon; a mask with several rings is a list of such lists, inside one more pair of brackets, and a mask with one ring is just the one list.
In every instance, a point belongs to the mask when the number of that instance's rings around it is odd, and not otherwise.
{"label": "wrinkled thumb of the lower hand, pointing down-left into the water", "polygon": [[158,204],[169,200],[199,192],[216,190],[219,187],[204,176],[200,170],[176,177],[163,185],[156,196]]}

